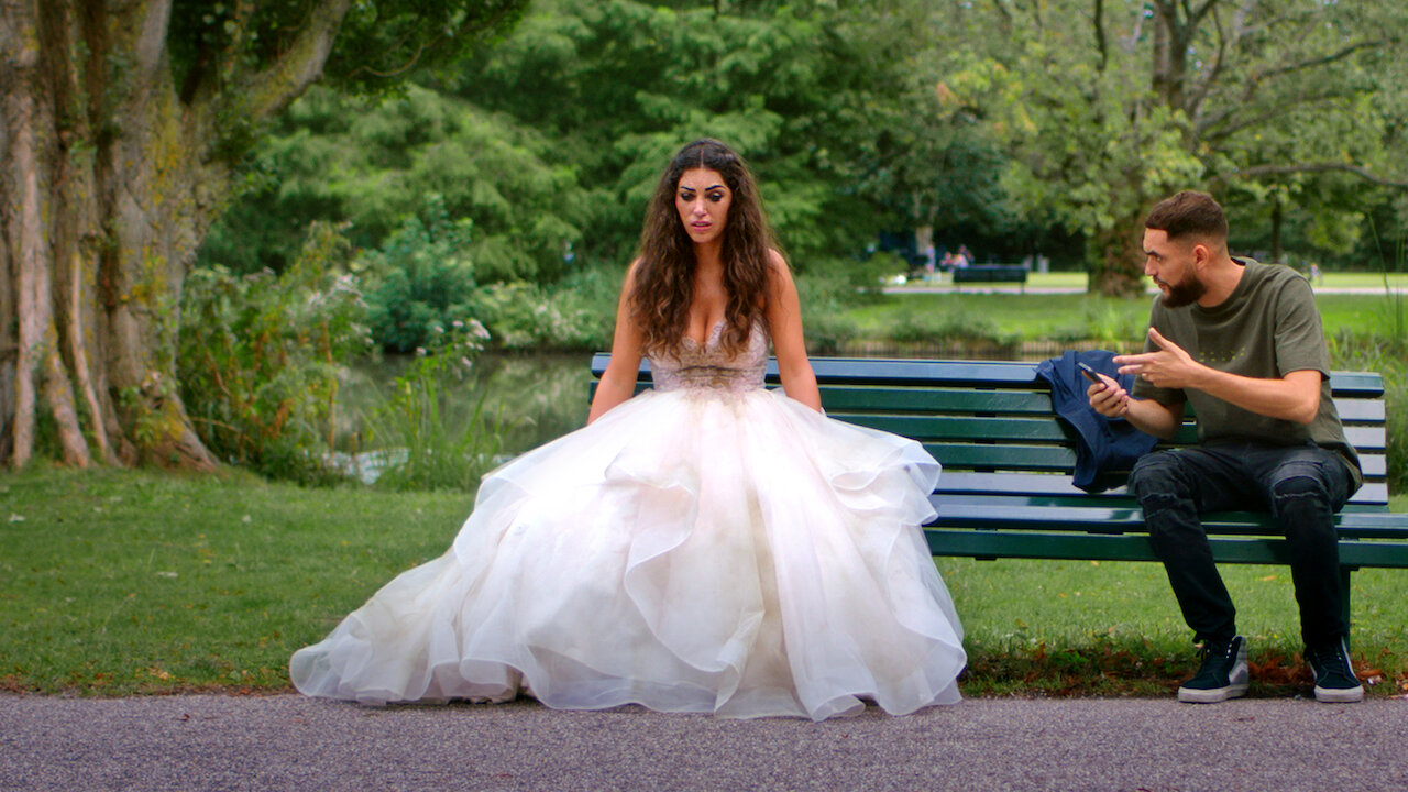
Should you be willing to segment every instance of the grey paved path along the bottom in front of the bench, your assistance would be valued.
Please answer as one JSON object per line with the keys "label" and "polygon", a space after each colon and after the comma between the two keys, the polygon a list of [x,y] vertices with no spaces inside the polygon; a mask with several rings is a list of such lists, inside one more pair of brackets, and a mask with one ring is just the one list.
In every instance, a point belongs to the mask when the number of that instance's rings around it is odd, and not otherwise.
{"label": "grey paved path along the bottom in front of the bench", "polygon": [[1402,791],[1408,700],[973,699],[810,723],[0,695],[0,789]]}

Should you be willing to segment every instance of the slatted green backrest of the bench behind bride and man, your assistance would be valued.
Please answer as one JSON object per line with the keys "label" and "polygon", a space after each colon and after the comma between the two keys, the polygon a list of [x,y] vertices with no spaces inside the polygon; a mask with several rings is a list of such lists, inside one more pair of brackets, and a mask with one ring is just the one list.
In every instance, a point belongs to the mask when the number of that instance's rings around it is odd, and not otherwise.
{"label": "slatted green backrest of the bench behind bride and man", "polygon": [[[593,358],[594,376],[608,359]],[[1076,433],[1052,413],[1050,389],[1036,376],[1036,364],[812,358],[811,365],[828,416],[922,443],[943,465],[941,493],[1090,497],[1070,483]],[[769,361],[767,380],[777,382],[776,361]],[[642,365],[639,388],[648,386]],[[1364,486],[1352,503],[1384,507],[1383,379],[1373,372],[1333,372],[1331,390],[1364,468]],[[1195,440],[1190,420],[1169,445]]]}

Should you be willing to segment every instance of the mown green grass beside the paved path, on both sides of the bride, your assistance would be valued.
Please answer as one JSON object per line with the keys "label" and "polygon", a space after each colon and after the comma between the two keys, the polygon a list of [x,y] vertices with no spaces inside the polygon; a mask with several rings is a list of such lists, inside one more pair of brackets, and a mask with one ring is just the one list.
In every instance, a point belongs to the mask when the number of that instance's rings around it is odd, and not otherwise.
{"label": "mown green grass beside the paved path, on both sides of the bride", "polygon": [[[289,655],[444,552],[463,493],[300,489],[244,474],[35,465],[0,474],[0,689],[283,691]],[[1395,509],[1408,509],[1397,497]],[[938,561],[967,629],[969,695],[1163,695],[1194,665],[1153,564]],[[1253,695],[1295,689],[1286,568],[1226,571]],[[1408,678],[1402,572],[1354,575],[1354,657]]]}

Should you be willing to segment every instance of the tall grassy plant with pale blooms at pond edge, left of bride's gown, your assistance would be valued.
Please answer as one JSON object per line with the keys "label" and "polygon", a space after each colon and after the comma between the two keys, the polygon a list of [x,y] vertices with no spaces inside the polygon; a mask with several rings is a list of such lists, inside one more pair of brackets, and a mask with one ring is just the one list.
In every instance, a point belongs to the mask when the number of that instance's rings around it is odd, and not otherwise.
{"label": "tall grassy plant with pale blooms at pond edge, left of bride's gown", "polygon": [[369,420],[367,443],[382,450],[377,486],[473,492],[479,478],[500,462],[505,427],[484,412],[484,395],[473,402],[467,420],[455,416],[456,406],[465,404],[458,390],[466,386],[487,338],[477,321],[452,323],[436,330],[396,378],[391,396]]}

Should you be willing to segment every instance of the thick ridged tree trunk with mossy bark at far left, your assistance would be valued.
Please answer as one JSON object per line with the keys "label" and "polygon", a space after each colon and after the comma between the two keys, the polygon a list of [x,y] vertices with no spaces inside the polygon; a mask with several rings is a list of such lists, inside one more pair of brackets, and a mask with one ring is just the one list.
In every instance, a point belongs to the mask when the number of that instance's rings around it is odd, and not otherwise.
{"label": "thick ridged tree trunk with mossy bark at far left", "polygon": [[[177,395],[186,269],[232,189],[227,125],[315,79],[346,11],[259,73],[177,94],[170,0],[0,0],[0,464],[215,459]],[[231,124],[231,118],[238,123]]]}

